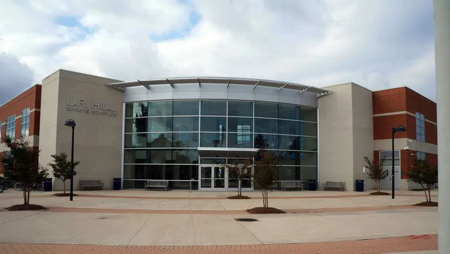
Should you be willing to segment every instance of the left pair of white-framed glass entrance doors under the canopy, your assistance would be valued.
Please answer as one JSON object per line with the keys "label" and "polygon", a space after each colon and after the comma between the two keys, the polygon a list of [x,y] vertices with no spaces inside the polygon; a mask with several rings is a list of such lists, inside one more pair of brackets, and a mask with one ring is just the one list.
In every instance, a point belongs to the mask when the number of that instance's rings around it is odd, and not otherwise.
{"label": "left pair of white-framed glass entrance doors under the canopy", "polygon": [[227,172],[224,172],[219,165],[201,165],[200,167],[201,191],[225,191],[227,179]]}

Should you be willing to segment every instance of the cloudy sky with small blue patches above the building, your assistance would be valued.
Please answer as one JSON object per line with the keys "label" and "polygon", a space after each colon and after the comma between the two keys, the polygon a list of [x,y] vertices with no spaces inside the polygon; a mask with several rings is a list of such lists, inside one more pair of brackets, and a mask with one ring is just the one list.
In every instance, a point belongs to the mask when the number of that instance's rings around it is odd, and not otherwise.
{"label": "cloudy sky with small blue patches above the building", "polygon": [[0,104],[59,68],[273,79],[436,101],[431,0],[2,0]]}

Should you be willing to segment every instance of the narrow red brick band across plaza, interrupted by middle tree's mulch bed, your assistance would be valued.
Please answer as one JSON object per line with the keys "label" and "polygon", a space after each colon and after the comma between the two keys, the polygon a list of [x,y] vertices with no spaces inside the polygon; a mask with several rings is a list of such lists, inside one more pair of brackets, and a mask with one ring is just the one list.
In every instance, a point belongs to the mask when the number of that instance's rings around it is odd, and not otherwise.
{"label": "narrow red brick band across plaza, interrupted by middle tree's mulch bed", "polygon": [[[97,213],[155,213],[155,214],[243,214],[245,210],[155,210],[155,209],[120,209],[120,208],[81,208],[81,207],[48,207],[53,212],[97,212]],[[357,212],[388,209],[419,208],[412,205],[386,205],[370,207],[336,207],[311,209],[284,209],[288,213],[319,212]]]}

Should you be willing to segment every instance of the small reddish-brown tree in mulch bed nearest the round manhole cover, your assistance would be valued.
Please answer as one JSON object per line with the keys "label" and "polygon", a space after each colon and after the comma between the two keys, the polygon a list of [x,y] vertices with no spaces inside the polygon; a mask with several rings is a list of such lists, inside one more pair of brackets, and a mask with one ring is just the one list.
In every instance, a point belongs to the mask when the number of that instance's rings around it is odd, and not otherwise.
{"label": "small reddish-brown tree in mulch bed nearest the round manhole cover", "polygon": [[253,183],[261,188],[264,208],[268,207],[267,191],[272,188],[272,184],[276,180],[277,161],[277,156],[273,156],[264,149],[260,149],[255,158]]}

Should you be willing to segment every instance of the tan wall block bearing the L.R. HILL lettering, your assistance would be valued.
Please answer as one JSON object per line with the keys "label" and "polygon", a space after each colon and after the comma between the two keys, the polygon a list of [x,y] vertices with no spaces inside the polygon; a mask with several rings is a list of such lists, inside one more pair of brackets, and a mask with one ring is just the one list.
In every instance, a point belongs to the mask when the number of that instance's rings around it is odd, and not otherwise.
{"label": "tan wall block bearing the L.R. HILL lettering", "polygon": [[[105,189],[111,189],[112,178],[121,176],[123,91],[105,85],[117,82],[114,79],[66,70],[59,70],[57,73],[59,77],[57,97],[54,97],[54,91],[45,90],[44,87],[42,93],[43,104],[48,101],[47,96],[50,95],[50,105],[57,108],[57,115],[51,122],[56,131],[47,132],[46,128],[43,128],[45,121],[41,120],[41,147],[43,143],[50,140],[52,144],[47,146],[54,146],[52,151],[66,152],[70,158],[72,129],[64,126],[64,123],[67,119],[73,119],[77,125],[75,127],[74,160],[80,161],[80,165],[75,168],[77,175],[74,178],[74,189],[79,189],[79,180],[100,180],[104,183]],[[77,103],[78,99],[82,99],[85,101],[86,107],[80,106],[79,108],[88,109],[90,112],[68,111],[68,95],[70,104]],[[105,108],[109,108],[109,104],[111,104],[115,111],[102,111],[116,113],[116,115],[92,114],[92,101],[105,102]],[[69,107],[73,108],[73,106]],[[45,108],[41,109],[42,115],[46,115]],[[50,138],[47,140],[44,135]],[[42,164],[50,161],[48,153],[46,152],[45,157],[44,154],[41,154],[40,162]],[[66,188],[68,188],[67,186],[68,182]],[[62,190],[62,182],[55,180],[53,189]]]}

